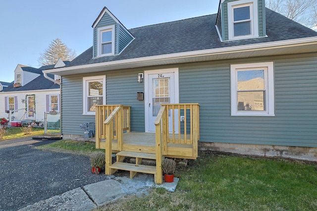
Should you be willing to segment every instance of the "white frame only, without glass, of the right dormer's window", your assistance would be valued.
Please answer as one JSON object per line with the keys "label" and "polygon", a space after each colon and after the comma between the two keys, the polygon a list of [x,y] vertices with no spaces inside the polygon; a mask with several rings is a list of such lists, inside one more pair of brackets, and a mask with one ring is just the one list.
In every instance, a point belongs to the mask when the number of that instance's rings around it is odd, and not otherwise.
{"label": "white frame only, without glass, of the right dormer's window", "polygon": [[[234,36],[233,9],[250,6],[250,35]],[[228,2],[228,38],[229,40],[242,40],[259,37],[258,0],[238,0]]]}

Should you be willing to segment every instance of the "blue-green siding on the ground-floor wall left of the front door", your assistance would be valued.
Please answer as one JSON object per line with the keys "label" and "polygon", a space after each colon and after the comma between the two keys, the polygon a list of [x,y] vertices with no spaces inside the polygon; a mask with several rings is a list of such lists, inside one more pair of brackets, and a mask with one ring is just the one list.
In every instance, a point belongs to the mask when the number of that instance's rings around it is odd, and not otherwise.
{"label": "blue-green siding on the ground-floor wall left of the front door", "polygon": [[137,100],[144,83],[137,83],[138,73],[139,70],[63,77],[62,133],[83,135],[79,124],[95,122],[95,115],[83,115],[83,77],[100,75],[106,75],[106,104],[131,106],[131,130],[145,131],[144,101]]}

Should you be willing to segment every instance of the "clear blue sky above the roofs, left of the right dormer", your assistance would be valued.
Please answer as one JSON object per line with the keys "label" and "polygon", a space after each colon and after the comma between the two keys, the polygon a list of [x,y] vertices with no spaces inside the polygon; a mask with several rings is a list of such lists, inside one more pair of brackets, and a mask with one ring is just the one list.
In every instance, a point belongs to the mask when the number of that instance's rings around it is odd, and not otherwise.
{"label": "clear blue sky above the roofs, left of the right dormer", "polygon": [[56,38],[81,54],[93,43],[92,24],[106,6],[127,28],[217,12],[218,0],[0,0],[0,81],[18,64],[38,68]]}

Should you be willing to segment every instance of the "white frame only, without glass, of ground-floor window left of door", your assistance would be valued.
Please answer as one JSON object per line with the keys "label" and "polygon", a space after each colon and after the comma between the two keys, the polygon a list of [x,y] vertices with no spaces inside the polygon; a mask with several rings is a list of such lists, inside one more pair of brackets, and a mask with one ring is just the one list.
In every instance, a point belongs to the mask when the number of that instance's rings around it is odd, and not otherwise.
{"label": "white frame only, without glass, of ground-floor window left of door", "polygon": [[92,76],[83,78],[83,115],[95,115],[95,111],[88,111],[88,83],[103,81],[103,105],[106,105],[106,76]]}

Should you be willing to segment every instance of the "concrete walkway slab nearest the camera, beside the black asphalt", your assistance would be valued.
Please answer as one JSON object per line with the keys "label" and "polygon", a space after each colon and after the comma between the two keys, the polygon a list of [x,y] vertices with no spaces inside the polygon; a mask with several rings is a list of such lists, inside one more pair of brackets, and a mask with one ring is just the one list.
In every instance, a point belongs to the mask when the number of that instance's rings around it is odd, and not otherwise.
{"label": "concrete walkway slab nearest the camera, beside the black asphalt", "polygon": [[29,205],[19,211],[91,211],[97,206],[85,191],[76,188],[50,199]]}

